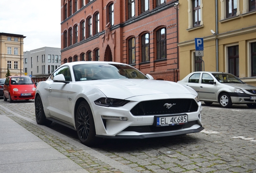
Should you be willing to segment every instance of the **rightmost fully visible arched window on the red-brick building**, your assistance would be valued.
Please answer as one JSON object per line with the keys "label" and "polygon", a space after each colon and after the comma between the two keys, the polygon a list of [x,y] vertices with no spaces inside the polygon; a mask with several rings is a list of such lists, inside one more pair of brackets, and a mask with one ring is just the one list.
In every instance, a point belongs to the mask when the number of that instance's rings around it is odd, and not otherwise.
{"label": "rightmost fully visible arched window on the red-brick building", "polygon": [[157,30],[157,59],[166,58],[166,29]]}

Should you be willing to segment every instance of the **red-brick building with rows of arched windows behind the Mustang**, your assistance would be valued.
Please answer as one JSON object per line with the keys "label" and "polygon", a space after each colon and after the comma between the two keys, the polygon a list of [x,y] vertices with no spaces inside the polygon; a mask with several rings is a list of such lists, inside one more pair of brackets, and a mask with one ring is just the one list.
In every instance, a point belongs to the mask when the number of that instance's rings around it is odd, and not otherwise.
{"label": "red-brick building with rows of arched windows behind the Mustang", "polygon": [[177,81],[177,0],[62,0],[62,64],[130,64],[155,79]]}

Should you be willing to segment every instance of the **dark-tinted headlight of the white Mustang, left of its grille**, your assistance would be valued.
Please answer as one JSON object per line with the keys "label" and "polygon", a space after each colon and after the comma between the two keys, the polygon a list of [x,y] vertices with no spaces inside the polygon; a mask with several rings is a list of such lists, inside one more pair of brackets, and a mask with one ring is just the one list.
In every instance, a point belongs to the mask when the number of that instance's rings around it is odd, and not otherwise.
{"label": "dark-tinted headlight of the white Mustang, left of its grille", "polygon": [[130,101],[121,100],[121,99],[112,99],[112,98],[99,98],[94,101],[95,105],[103,106],[103,107],[121,107]]}

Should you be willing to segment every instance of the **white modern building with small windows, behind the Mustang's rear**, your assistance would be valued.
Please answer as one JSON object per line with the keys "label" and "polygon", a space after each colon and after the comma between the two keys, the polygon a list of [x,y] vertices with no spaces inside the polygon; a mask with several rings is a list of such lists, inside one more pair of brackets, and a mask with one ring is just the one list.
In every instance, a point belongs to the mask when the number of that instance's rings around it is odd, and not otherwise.
{"label": "white modern building with small windows, behind the Mustang's rear", "polygon": [[35,82],[46,80],[61,65],[60,48],[42,47],[23,54],[24,74]]}

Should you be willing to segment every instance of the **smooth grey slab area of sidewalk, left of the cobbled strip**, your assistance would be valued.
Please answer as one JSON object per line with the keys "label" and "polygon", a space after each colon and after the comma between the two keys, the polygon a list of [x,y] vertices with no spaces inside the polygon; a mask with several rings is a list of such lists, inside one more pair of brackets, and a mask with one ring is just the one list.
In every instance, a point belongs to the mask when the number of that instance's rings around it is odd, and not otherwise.
{"label": "smooth grey slab area of sidewalk, left of the cobbled strip", "polygon": [[6,115],[0,115],[0,172],[88,173]]}

